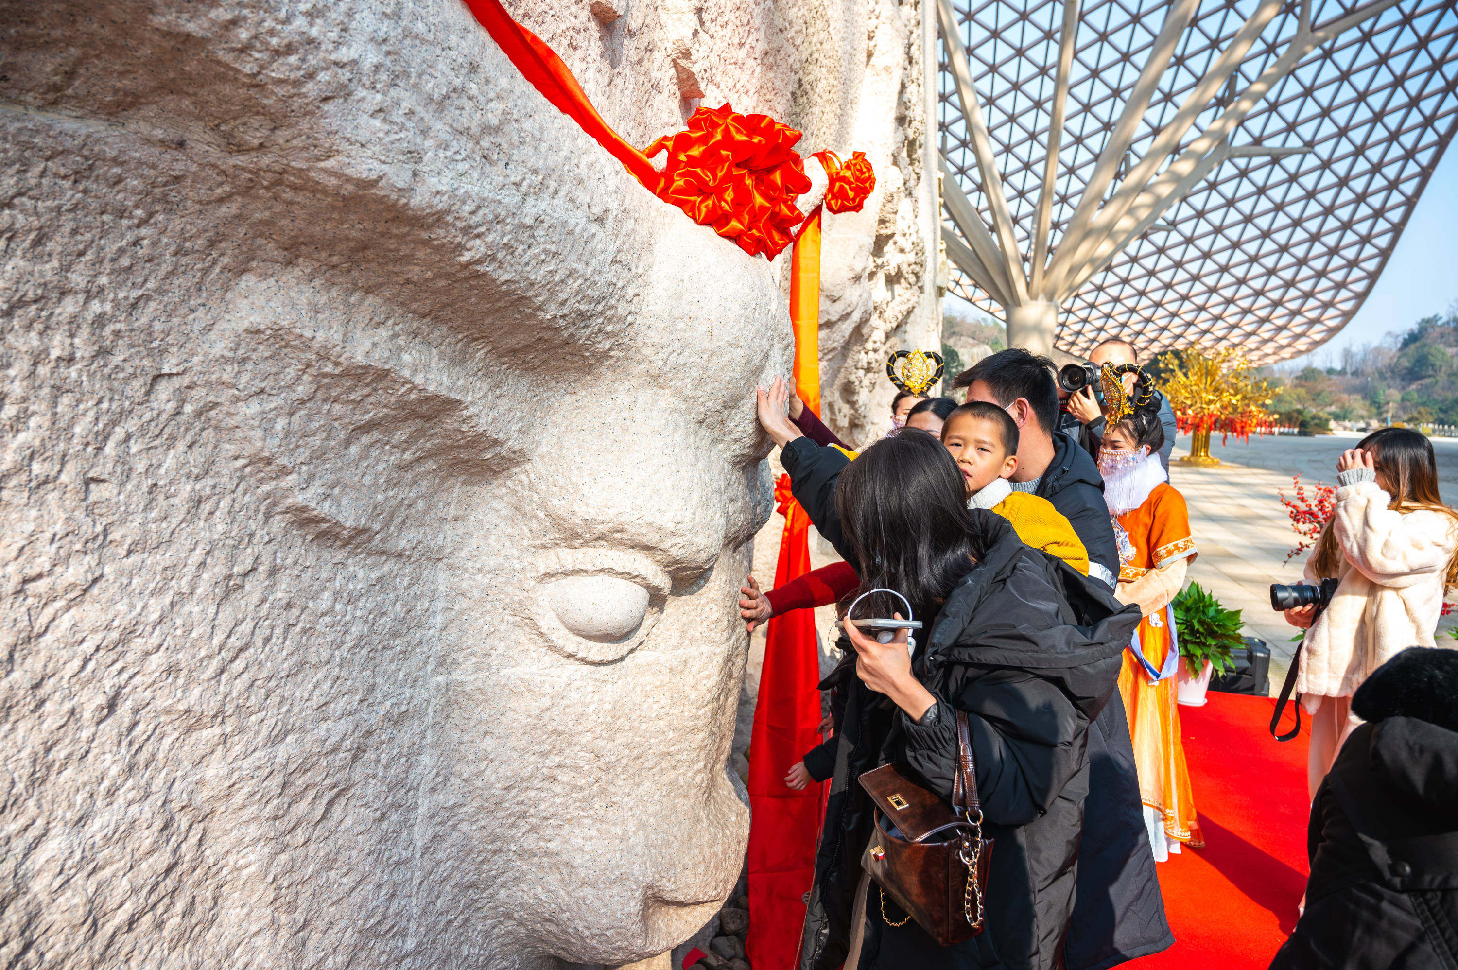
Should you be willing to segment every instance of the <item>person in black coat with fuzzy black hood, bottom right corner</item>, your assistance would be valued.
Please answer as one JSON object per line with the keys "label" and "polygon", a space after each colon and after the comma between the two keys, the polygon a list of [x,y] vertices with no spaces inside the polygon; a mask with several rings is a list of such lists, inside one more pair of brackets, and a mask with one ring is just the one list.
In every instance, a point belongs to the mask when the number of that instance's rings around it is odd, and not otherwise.
{"label": "person in black coat with fuzzy black hood, bottom right corner", "polygon": [[1306,910],[1271,970],[1458,967],[1458,651],[1410,648],[1317,789]]}

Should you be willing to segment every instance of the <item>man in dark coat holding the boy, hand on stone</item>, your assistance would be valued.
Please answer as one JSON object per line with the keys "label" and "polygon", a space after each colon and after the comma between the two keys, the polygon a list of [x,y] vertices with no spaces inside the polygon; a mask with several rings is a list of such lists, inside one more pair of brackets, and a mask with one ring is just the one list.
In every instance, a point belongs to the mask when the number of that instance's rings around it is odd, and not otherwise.
{"label": "man in dark coat holding the boy, hand on stone", "polygon": [[[987,362],[996,366],[984,368]],[[1040,435],[1050,439],[1037,451],[1042,464],[1038,465],[1035,494],[1053,502],[1073,524],[1089,551],[1091,572],[1099,557],[1112,566],[1112,589],[1118,553],[1104,503],[1104,480],[1082,448],[1067,435],[1044,430],[1041,423],[1047,419],[1051,427],[1057,413],[1057,385],[1050,368],[1051,362],[1025,350],[1005,350],[959,375],[956,385],[968,387],[974,400],[977,394],[990,395],[994,404],[1022,414],[1021,439]],[[784,416],[786,408],[787,392],[780,379],[768,391],[760,391],[760,422],[783,446],[780,461],[790,476],[795,499],[825,541],[865,576],[835,512],[835,490],[850,458],[800,435]],[[1018,454],[1021,459],[1021,441]],[[1128,716],[1117,693],[1098,712],[1088,745],[1089,798],[1079,845],[1073,922],[1064,948],[1067,970],[1107,970],[1174,944],[1145,827]]]}

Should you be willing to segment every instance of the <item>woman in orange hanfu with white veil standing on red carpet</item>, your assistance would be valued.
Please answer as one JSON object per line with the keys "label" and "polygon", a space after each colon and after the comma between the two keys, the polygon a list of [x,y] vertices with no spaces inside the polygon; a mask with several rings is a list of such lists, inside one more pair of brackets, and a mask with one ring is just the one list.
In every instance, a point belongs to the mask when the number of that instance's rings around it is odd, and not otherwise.
{"label": "woman in orange hanfu with white veil standing on red carpet", "polygon": [[1115,595],[1121,602],[1137,602],[1145,613],[1124,651],[1118,690],[1128,712],[1145,824],[1158,862],[1180,852],[1181,843],[1204,846],[1180,738],[1175,700],[1180,646],[1169,608],[1196,548],[1184,496],[1169,486],[1158,458],[1163,439],[1159,408],[1134,407],[1108,422],[1099,449],[1104,500],[1118,541]]}

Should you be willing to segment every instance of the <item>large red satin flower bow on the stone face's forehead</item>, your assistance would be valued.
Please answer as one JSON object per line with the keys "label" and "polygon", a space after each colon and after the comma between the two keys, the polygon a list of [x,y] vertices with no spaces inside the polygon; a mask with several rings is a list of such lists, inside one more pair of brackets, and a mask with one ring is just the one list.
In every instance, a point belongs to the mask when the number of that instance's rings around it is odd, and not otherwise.
{"label": "large red satin flower bow on the stone face's forehead", "polygon": [[754,255],[780,255],[805,222],[795,198],[811,179],[793,146],[800,133],[768,115],[742,115],[729,105],[700,108],[688,130],[647,146],[649,158],[668,150],[656,195],[701,226]]}

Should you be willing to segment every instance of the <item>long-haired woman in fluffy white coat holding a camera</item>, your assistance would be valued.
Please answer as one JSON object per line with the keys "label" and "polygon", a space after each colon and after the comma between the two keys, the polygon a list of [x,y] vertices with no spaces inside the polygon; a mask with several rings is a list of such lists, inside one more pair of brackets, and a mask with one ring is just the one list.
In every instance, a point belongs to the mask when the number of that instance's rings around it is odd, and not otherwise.
{"label": "long-haired woman in fluffy white coat holding a camera", "polygon": [[1306,582],[1337,578],[1331,605],[1287,610],[1309,627],[1296,693],[1311,715],[1306,783],[1321,779],[1356,726],[1352,694],[1408,646],[1433,646],[1443,595],[1458,585],[1458,513],[1438,494],[1433,445],[1407,427],[1368,435],[1337,461],[1337,508],[1306,563]]}

